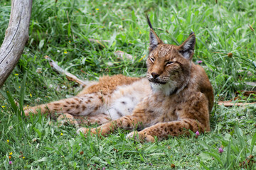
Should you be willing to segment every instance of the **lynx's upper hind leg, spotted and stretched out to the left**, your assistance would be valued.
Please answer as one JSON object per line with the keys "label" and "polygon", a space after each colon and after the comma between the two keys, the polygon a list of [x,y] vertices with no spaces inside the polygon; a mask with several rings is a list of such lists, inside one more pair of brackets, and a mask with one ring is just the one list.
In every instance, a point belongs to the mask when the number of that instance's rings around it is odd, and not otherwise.
{"label": "lynx's upper hind leg, spotted and stretched out to the left", "polygon": [[75,96],[73,98],[65,98],[60,101],[53,101],[51,103],[42,104],[28,108],[25,115],[29,113],[41,114],[50,113],[54,117],[54,113],[68,113],[71,115],[95,115],[100,113],[103,106],[103,96],[99,94],[87,94],[84,96]]}

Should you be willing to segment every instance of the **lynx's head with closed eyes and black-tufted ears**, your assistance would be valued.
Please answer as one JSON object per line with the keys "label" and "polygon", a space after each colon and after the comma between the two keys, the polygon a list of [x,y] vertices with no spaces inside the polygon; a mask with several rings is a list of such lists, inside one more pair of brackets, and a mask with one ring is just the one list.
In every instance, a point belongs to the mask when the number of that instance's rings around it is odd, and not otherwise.
{"label": "lynx's head with closed eyes and black-tufted ears", "polygon": [[196,44],[195,33],[181,45],[164,44],[150,26],[149,57],[146,60],[146,77],[154,92],[169,96],[181,91],[189,81],[193,50]]}

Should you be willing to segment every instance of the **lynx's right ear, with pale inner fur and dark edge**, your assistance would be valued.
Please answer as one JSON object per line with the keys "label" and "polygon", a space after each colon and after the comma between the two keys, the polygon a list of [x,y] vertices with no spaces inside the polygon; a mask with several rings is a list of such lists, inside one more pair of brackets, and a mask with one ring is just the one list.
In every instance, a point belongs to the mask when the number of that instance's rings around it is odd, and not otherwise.
{"label": "lynx's right ear, with pale inner fur and dark edge", "polygon": [[192,60],[194,47],[196,45],[196,35],[191,32],[188,39],[186,39],[180,46],[178,52],[188,60]]}

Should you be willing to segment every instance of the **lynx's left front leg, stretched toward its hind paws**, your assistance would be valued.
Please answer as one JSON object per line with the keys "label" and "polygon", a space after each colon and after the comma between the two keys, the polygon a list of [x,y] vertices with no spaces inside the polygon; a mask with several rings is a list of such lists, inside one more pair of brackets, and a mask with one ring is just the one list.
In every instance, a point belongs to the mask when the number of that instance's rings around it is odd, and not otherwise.
{"label": "lynx's left front leg, stretched toward its hind paws", "polygon": [[110,123],[101,125],[98,128],[93,128],[93,129],[80,128],[78,129],[77,133],[79,134],[80,132],[82,132],[85,135],[87,135],[88,132],[91,132],[91,135],[97,134],[97,135],[106,136],[110,132],[114,132],[114,130],[116,130],[117,128],[132,130],[137,127],[138,123],[139,123],[139,120],[137,118],[133,117],[132,115],[127,115],[117,120],[114,120]]}

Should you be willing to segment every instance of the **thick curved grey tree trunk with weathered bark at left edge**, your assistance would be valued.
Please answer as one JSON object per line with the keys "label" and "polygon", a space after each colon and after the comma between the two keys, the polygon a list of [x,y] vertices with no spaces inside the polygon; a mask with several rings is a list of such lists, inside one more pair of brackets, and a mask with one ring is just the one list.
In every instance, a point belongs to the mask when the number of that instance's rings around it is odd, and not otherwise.
{"label": "thick curved grey tree trunk with weathered bark at left edge", "polygon": [[32,0],[12,0],[9,26],[0,48],[0,87],[16,66],[28,40]]}

